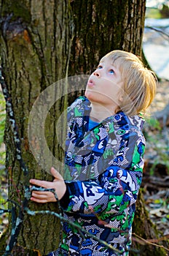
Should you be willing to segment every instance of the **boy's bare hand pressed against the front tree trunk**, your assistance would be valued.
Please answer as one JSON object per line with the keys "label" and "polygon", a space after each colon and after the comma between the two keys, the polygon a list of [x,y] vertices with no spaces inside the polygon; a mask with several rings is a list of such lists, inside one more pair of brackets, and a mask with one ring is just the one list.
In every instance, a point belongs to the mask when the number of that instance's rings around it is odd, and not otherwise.
{"label": "boy's bare hand pressed against the front tree trunk", "polygon": [[[40,181],[32,178],[30,183],[39,187],[44,187],[45,189],[55,189],[58,200],[60,200],[66,192],[65,181],[54,167],[51,168],[51,174],[55,177],[53,181]],[[55,195],[48,191],[33,191],[31,200],[36,203],[56,202]]]}

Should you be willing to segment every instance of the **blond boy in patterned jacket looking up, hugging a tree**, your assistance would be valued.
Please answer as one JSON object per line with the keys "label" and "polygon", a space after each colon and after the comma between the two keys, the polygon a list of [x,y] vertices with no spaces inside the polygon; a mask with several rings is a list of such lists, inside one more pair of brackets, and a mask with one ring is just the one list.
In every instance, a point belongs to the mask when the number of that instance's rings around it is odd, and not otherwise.
{"label": "blond boy in patterned jacket looking up, hugging a tree", "polygon": [[[156,79],[133,53],[114,50],[90,75],[84,97],[68,108],[66,180],[51,168],[64,216],[111,244],[110,249],[63,224],[60,249],[49,255],[128,255],[135,202],[141,186],[145,140],[141,129],[154,98]],[[52,192],[32,192],[37,203],[55,202]]]}

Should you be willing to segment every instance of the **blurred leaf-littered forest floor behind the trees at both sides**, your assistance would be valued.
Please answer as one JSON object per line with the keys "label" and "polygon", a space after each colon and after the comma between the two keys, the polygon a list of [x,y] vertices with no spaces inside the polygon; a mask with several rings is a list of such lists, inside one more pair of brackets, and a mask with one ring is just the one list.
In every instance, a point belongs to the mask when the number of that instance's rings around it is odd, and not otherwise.
{"label": "blurred leaf-littered forest floor behind the trees at both sides", "polygon": [[[157,95],[149,112],[153,113],[165,108],[169,104],[169,81],[161,80],[157,86]],[[144,198],[149,217],[157,225],[157,230],[162,236],[169,236],[169,127],[157,129],[157,124],[152,121],[152,126],[145,129],[146,132],[146,154],[144,178]],[[4,151],[4,145],[0,153]],[[0,164],[0,208],[7,208],[7,173]],[[8,214],[1,215],[1,233],[8,225]]]}

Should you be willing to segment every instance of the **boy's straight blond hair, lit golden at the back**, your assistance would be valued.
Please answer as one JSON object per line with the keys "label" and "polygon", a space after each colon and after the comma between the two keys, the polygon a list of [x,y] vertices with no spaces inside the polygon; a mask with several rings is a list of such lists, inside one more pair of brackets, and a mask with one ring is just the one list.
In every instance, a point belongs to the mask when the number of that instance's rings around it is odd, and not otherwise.
{"label": "boy's straight blond hair, lit golden at the back", "polygon": [[123,80],[122,102],[116,113],[124,111],[128,116],[146,112],[156,93],[157,78],[152,70],[144,67],[143,62],[133,53],[113,50],[103,56],[101,61],[109,58],[111,64],[119,68]]}

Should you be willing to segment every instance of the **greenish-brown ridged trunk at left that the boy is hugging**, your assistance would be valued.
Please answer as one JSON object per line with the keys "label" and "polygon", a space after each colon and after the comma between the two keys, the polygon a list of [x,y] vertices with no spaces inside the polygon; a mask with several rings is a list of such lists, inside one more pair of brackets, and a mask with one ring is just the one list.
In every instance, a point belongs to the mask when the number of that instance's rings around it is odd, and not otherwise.
{"label": "greenish-brown ridged trunk at left that the boy is hugging", "polygon": [[[56,80],[65,78],[68,71],[71,46],[71,19],[68,1],[31,0],[1,1],[1,62],[4,77],[12,97],[15,120],[21,138],[23,160],[28,167],[29,178],[52,180],[46,170],[37,165],[28,145],[28,117],[35,99]],[[63,91],[60,91],[63,90]],[[66,94],[66,86],[55,94]],[[67,99],[59,99],[50,110],[45,122],[45,135],[50,151],[58,159],[63,152],[55,138],[55,121],[66,108]],[[55,116],[55,118],[54,118]],[[38,128],[37,128],[38,129]],[[24,177],[16,159],[11,125],[7,118],[5,131],[7,146],[6,166],[9,170],[9,200],[23,200]],[[51,163],[52,165],[52,163]],[[49,170],[50,171],[50,170]],[[11,203],[10,203],[11,204]],[[31,210],[56,211],[55,204],[43,206],[29,203]],[[50,215],[25,214],[18,238],[20,246],[40,250],[47,254],[58,246],[59,220]],[[14,255],[27,255],[25,249],[15,248]]]}

